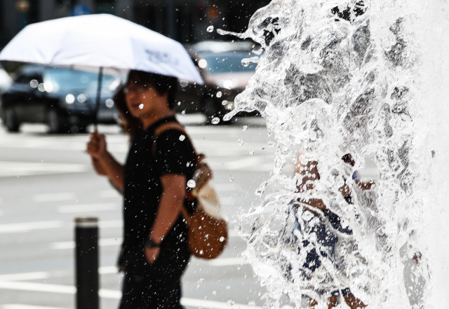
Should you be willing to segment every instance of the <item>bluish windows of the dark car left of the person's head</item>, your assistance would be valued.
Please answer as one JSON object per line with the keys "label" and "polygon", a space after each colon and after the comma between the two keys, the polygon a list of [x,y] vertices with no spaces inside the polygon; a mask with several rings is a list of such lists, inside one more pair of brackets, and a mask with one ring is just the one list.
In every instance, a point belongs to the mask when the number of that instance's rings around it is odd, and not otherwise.
{"label": "bluish windows of the dark car left of the person's head", "polygon": [[[56,68],[46,72],[52,91],[55,92],[83,92],[94,95],[98,88],[98,74],[88,71]],[[102,94],[110,95],[120,85],[117,76],[103,75]]]}

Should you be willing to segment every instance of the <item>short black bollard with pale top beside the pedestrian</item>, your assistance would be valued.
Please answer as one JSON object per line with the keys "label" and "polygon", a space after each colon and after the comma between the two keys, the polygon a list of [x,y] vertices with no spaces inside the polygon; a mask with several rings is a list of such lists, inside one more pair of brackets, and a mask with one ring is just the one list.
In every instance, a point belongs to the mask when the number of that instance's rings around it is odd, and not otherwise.
{"label": "short black bollard with pale top beside the pedestrian", "polygon": [[98,218],[75,219],[76,309],[98,309]]}

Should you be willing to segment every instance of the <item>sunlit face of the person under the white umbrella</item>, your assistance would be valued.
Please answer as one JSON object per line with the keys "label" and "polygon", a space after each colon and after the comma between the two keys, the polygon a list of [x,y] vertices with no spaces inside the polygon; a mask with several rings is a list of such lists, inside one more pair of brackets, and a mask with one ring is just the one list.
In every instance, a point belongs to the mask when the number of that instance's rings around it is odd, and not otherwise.
{"label": "sunlit face of the person under the white umbrella", "polygon": [[167,105],[167,94],[159,95],[159,92],[152,88],[151,85],[143,87],[133,81],[129,81],[124,91],[128,111],[140,120],[157,114],[158,109],[163,107],[163,105]]}

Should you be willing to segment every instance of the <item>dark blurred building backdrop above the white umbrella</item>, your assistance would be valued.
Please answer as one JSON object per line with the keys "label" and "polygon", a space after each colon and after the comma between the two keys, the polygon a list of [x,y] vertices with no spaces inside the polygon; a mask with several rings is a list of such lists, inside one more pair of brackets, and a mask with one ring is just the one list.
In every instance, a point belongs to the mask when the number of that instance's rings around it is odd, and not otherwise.
{"label": "dark blurred building backdrop above the white umbrella", "polygon": [[[213,25],[243,32],[269,0],[0,0],[0,47],[33,22],[89,13],[126,18],[181,43],[224,39]],[[235,39],[235,38],[234,38]]]}

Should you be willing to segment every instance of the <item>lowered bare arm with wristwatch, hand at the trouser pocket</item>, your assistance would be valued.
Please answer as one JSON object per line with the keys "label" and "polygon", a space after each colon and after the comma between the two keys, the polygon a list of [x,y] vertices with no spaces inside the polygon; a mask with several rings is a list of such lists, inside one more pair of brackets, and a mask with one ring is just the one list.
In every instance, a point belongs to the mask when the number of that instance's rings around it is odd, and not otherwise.
{"label": "lowered bare arm with wristwatch, hand at the trouser pocket", "polygon": [[[148,238],[152,239],[156,245],[162,242],[173,224],[175,224],[187,195],[185,175],[164,174],[161,177],[161,183],[161,201],[159,202],[152,231],[148,235]],[[145,246],[145,255],[147,256],[147,261],[153,263],[159,255],[159,247],[149,248]]]}

